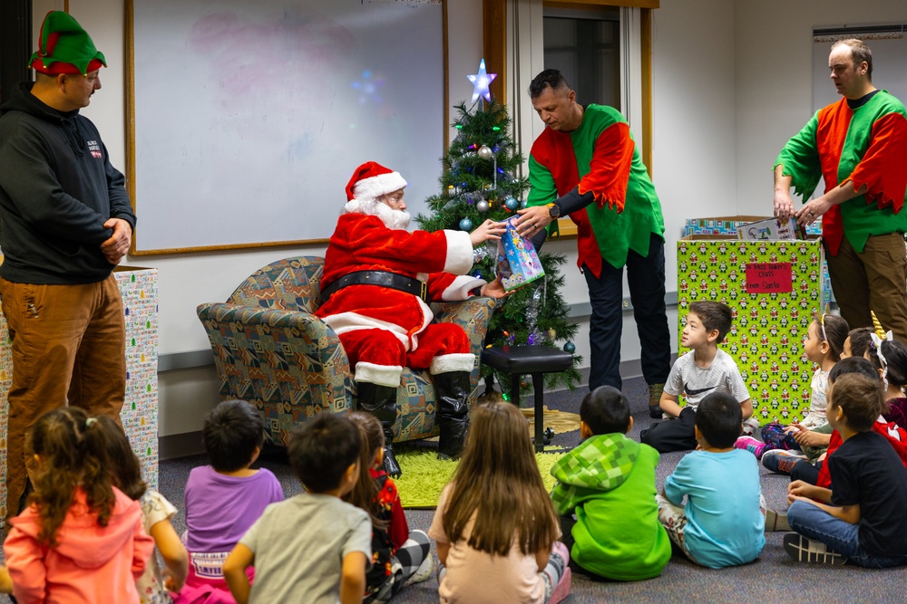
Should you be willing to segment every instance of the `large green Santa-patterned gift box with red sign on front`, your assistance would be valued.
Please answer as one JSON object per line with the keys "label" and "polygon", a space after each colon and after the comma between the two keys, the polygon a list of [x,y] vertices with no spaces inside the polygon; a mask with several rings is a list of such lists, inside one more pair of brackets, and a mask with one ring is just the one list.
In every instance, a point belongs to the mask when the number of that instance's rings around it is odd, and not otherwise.
{"label": "large green Santa-patterned gift box with red sign on front", "polygon": [[[809,411],[816,367],[804,339],[824,297],[818,237],[741,241],[731,235],[688,235],[678,241],[678,332],[689,304],[724,302],[734,317],[719,344],[734,358],[761,423],[788,424]],[[678,338],[679,341],[679,338]],[[681,348],[678,354],[687,353]]]}

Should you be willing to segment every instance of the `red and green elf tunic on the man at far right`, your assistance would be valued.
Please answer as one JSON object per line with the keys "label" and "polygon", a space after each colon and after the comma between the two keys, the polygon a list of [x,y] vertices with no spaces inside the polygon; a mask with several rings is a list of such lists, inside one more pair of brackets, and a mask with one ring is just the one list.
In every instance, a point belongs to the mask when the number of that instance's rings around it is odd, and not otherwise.
{"label": "red and green elf tunic on the man at far right", "polygon": [[813,195],[820,176],[825,193],[848,180],[854,191],[867,187],[864,195],[822,216],[822,236],[832,255],[845,235],[862,253],[870,235],[907,232],[907,212],[901,211],[907,190],[907,112],[887,91],[856,109],[842,98],[816,111],[781,150],[775,168],[778,164],[804,199]]}

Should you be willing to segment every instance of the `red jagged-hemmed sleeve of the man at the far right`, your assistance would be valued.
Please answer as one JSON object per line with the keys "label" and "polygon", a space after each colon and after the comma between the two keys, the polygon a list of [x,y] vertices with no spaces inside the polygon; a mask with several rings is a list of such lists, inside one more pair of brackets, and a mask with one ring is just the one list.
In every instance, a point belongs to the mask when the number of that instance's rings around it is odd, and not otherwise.
{"label": "red jagged-hemmed sleeve of the man at the far right", "polygon": [[879,207],[904,205],[907,191],[907,119],[900,113],[883,115],[873,124],[873,142],[850,175],[853,190],[867,187],[866,200]]}

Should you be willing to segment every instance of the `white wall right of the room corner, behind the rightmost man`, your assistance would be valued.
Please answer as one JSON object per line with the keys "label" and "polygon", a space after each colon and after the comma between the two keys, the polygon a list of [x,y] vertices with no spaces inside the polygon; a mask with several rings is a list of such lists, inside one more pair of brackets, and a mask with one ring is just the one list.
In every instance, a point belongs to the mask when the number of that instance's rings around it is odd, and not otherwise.
{"label": "white wall right of the room corner, behind the rightmost man", "polygon": [[[787,139],[812,115],[813,28],[905,20],[907,2],[902,0],[736,0],[736,198],[740,214],[772,211],[772,164]],[[881,79],[873,83],[885,87]]]}

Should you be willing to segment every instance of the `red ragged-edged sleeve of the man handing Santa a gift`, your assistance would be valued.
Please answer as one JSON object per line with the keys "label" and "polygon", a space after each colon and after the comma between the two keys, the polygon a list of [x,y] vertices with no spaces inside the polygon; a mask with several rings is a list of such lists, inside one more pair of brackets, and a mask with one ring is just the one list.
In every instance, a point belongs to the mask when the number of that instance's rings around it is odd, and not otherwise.
{"label": "red ragged-edged sleeve of the man handing Santa a gift", "polygon": [[592,191],[599,207],[608,204],[622,212],[634,149],[629,124],[618,122],[602,130],[595,141],[589,174],[580,179],[580,195]]}

